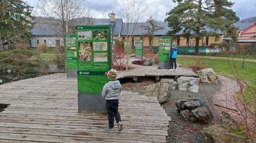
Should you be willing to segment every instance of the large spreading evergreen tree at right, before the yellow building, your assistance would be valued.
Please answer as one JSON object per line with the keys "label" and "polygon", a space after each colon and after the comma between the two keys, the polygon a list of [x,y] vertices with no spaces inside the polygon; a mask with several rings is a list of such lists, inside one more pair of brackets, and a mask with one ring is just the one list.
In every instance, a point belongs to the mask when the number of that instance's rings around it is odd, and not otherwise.
{"label": "large spreading evergreen tree at right, before the yellow building", "polygon": [[[174,0],[177,6],[167,13],[166,21],[171,30],[168,32],[174,35],[178,32],[179,37],[196,38],[195,52],[199,54],[199,40],[204,36],[214,36],[219,38],[217,29],[237,41],[236,28],[233,23],[238,21],[230,7],[234,3],[228,0]],[[207,26],[213,31],[206,32]]]}

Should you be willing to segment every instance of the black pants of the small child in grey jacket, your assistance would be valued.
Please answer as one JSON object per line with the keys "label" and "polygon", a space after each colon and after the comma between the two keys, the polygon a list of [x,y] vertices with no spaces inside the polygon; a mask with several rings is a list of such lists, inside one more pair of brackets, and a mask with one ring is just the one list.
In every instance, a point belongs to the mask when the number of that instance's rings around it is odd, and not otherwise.
{"label": "black pants of the small child in grey jacket", "polygon": [[118,99],[115,100],[106,100],[106,109],[108,111],[109,118],[109,128],[114,127],[114,118],[115,122],[121,122],[121,116],[118,112]]}

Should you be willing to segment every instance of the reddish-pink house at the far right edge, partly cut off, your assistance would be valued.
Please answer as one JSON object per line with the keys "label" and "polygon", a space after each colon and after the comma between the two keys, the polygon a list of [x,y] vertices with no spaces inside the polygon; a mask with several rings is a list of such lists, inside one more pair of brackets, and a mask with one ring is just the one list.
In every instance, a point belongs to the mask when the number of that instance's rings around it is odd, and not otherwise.
{"label": "reddish-pink house at the far right edge, partly cut off", "polygon": [[238,42],[256,42],[256,23],[241,32]]}

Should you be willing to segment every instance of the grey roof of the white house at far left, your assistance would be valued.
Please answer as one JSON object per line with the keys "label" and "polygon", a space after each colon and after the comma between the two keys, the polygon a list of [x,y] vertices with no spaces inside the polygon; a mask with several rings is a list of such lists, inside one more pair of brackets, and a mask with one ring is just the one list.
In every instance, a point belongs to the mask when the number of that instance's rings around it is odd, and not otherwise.
{"label": "grey roof of the white house at far left", "polygon": [[60,25],[40,24],[35,25],[34,28],[31,29],[31,34],[38,36],[56,36],[63,34],[63,32]]}

